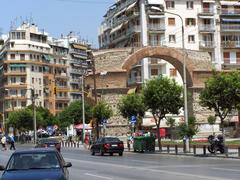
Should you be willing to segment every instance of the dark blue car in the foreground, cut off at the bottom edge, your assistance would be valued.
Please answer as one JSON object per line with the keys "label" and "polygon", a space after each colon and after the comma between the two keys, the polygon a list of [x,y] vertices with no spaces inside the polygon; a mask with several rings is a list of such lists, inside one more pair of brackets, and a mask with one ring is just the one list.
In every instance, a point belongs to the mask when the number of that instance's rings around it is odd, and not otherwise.
{"label": "dark blue car in the foreground, cut off at the bottom edge", "polygon": [[67,168],[71,166],[56,149],[15,151],[6,167],[0,165],[4,171],[1,180],[68,180]]}

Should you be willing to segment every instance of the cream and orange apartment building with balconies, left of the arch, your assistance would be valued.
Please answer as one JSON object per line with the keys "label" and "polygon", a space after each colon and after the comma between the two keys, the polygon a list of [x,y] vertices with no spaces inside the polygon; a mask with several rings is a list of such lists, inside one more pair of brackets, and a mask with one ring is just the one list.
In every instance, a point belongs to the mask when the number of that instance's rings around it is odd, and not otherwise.
{"label": "cream and orange apartment building with balconies, left of the arch", "polygon": [[[31,105],[32,90],[35,105],[55,115],[72,100],[81,99],[79,82],[84,63],[78,62],[75,69],[72,64],[77,58],[87,59],[87,47],[80,41],[53,39],[34,24],[23,23],[12,29],[0,43],[0,107],[4,118]],[[81,57],[74,59],[73,51],[80,51]]]}

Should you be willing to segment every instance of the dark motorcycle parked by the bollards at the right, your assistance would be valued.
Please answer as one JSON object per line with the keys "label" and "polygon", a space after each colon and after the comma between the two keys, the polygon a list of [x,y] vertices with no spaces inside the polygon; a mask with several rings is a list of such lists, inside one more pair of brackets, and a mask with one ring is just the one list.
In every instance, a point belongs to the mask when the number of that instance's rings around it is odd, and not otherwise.
{"label": "dark motorcycle parked by the bollards at the right", "polygon": [[222,135],[218,135],[216,137],[214,135],[210,135],[208,136],[208,142],[210,143],[210,145],[208,146],[208,151],[210,153],[214,154],[217,151],[219,151],[221,154],[224,153],[225,147]]}

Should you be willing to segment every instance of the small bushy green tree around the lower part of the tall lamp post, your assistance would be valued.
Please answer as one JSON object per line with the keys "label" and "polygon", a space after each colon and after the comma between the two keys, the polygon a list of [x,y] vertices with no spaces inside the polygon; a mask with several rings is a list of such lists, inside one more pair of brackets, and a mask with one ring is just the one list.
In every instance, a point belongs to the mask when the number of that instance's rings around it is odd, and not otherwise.
{"label": "small bushy green tree around the lower part of the tall lamp post", "polygon": [[181,123],[178,126],[178,133],[181,138],[184,138],[185,135],[188,136],[188,138],[191,140],[194,135],[198,132],[198,127],[196,124],[196,118],[195,117],[189,117],[188,118],[188,125],[186,123]]}

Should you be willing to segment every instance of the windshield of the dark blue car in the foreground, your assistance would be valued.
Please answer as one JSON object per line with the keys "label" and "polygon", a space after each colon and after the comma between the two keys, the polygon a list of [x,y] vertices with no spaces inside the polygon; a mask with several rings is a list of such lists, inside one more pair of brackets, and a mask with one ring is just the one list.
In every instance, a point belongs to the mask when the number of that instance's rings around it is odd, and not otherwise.
{"label": "windshield of the dark blue car in the foreground", "polygon": [[54,152],[16,153],[7,165],[7,170],[52,169],[60,168],[60,163]]}

